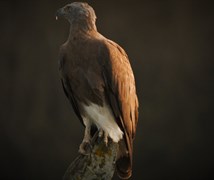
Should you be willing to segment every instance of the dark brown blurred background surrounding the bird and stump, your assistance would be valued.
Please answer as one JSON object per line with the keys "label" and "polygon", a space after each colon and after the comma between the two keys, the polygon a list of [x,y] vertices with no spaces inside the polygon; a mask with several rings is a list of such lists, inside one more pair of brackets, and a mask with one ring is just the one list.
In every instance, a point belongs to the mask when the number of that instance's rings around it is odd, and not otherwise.
{"label": "dark brown blurred background surrounding the bird and stump", "polygon": [[[60,180],[83,127],[66,99],[58,51],[71,1],[0,1],[0,179]],[[91,0],[98,30],[128,53],[140,118],[134,180],[214,177],[212,1]]]}

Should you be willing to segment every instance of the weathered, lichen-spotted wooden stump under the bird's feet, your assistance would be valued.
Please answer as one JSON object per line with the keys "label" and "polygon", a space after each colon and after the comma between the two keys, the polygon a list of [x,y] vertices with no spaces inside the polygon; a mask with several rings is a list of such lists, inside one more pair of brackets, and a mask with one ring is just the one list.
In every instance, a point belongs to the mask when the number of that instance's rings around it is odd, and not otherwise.
{"label": "weathered, lichen-spotted wooden stump under the bird's feet", "polygon": [[118,152],[118,144],[109,141],[106,146],[103,139],[92,139],[89,155],[79,154],[68,167],[63,180],[111,180]]}

